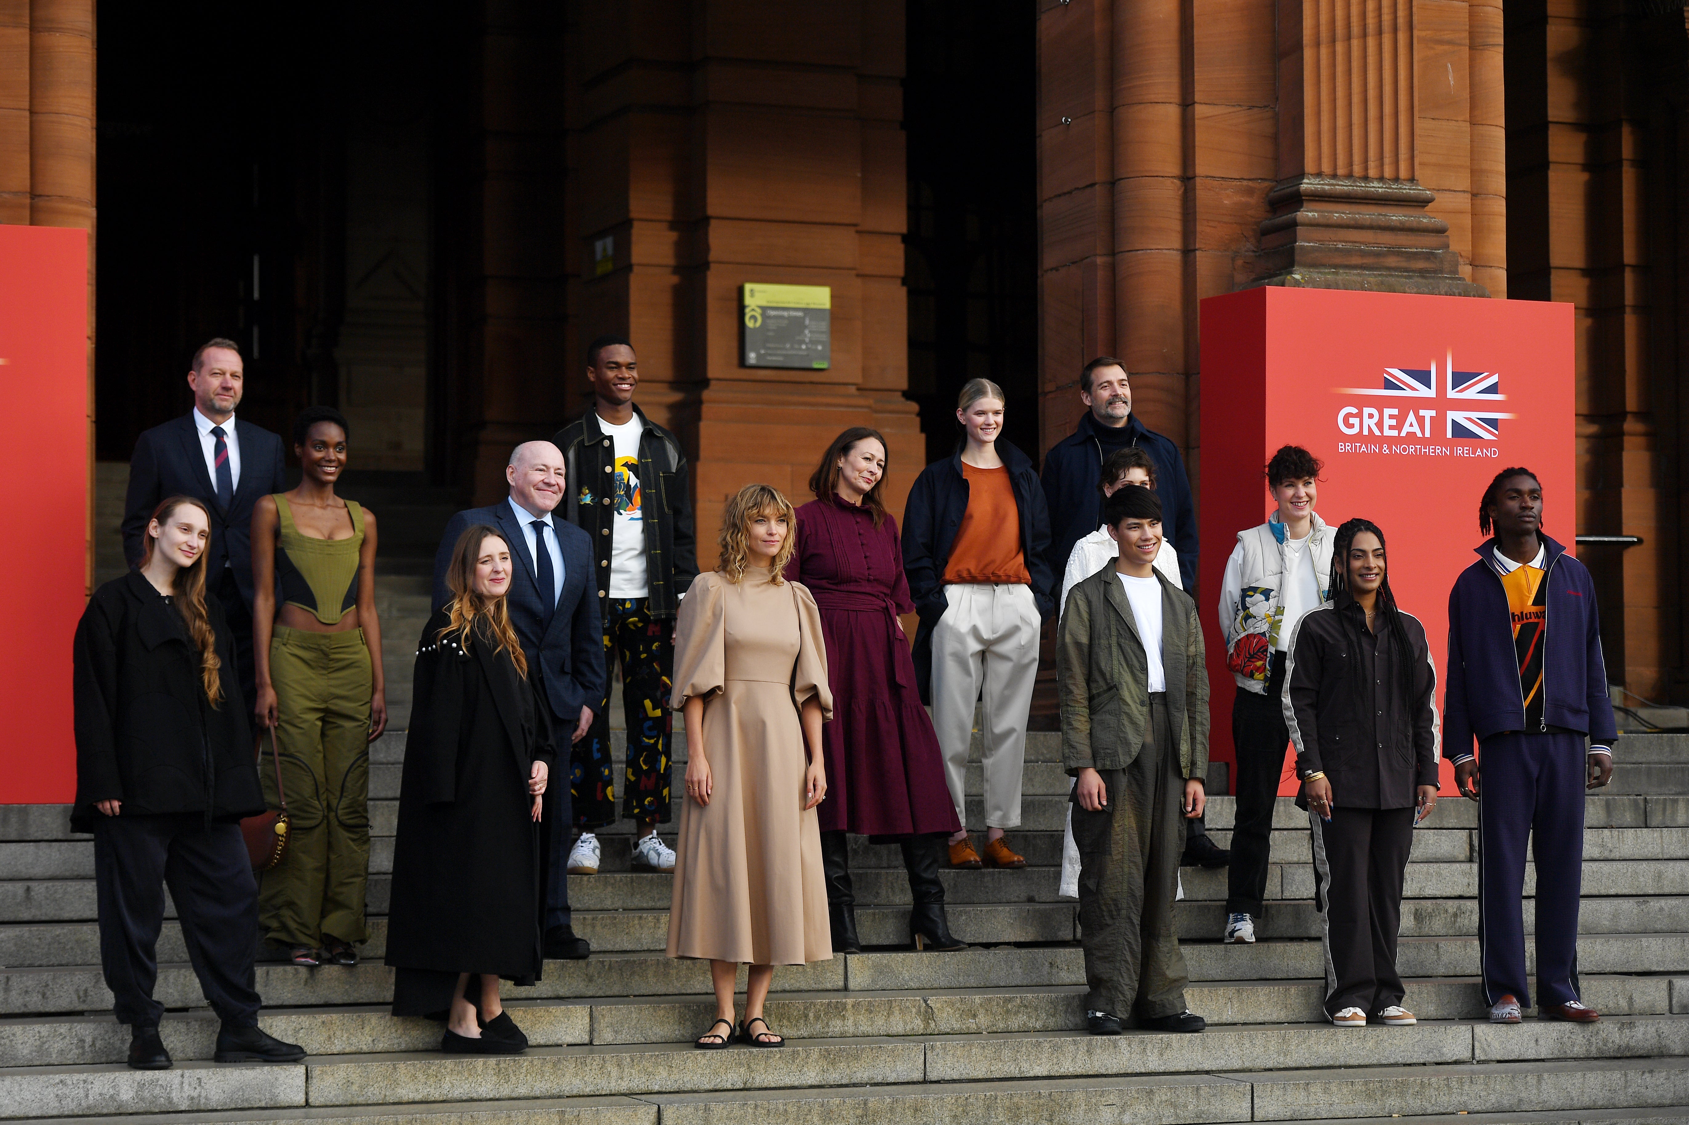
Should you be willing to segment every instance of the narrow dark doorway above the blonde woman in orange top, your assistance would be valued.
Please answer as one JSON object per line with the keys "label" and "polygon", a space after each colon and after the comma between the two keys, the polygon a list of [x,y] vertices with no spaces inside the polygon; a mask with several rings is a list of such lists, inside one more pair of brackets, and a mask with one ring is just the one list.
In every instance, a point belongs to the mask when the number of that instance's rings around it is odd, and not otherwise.
{"label": "narrow dark doorway above the blonde woman in orange top", "polygon": [[927,459],[956,395],[1003,388],[1003,439],[1039,459],[1037,34],[1024,0],[909,0],[909,396]]}

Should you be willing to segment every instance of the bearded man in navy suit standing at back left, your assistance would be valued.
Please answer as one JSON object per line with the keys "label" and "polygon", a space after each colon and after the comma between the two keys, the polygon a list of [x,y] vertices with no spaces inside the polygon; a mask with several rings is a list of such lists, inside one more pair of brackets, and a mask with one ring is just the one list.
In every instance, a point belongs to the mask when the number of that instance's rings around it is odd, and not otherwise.
{"label": "bearded man in navy suit standing at back left", "polygon": [[155,425],[135,442],[123,501],[123,557],[140,565],[147,521],[171,496],[193,496],[211,511],[211,558],[206,594],[223,602],[240,690],[252,715],[258,698],[252,668],[252,506],[260,496],[287,491],[282,439],[250,422],[235,425],[245,390],[240,344],[213,339],[194,353],[187,386],[194,408]]}

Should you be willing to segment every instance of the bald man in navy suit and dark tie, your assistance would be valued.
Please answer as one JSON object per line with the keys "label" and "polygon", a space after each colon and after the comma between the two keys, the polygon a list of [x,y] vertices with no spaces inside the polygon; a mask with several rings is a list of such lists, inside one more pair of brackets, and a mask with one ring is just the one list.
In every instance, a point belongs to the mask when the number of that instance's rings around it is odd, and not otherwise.
{"label": "bald man in navy suit and dark tie", "polygon": [[[451,597],[446,568],[458,538],[485,523],[498,528],[510,553],[522,560],[510,582],[510,624],[522,639],[529,675],[539,675],[551,705],[552,735],[578,742],[593,725],[593,703],[605,698],[605,634],[598,622],[603,592],[593,575],[593,540],[568,519],[554,519],[566,486],[562,450],[551,442],[525,442],[505,467],[510,498],[491,508],[459,511],[446,525],[434,557],[434,609]],[[537,673],[535,673],[537,670]],[[562,742],[569,739],[569,742]],[[591,953],[569,919],[569,825],[574,813],[569,786],[554,784],[551,806],[551,870],[546,889],[546,956],[581,960]]]}

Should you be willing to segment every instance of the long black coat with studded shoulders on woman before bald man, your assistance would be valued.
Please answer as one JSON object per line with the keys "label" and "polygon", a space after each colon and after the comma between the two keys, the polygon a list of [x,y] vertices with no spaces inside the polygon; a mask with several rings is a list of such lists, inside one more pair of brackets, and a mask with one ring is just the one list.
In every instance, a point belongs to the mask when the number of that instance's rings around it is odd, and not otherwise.
{"label": "long black coat with studded shoulders on woman before bald man", "polygon": [[529,771],[559,778],[534,676],[517,675],[481,626],[464,651],[429,617],[417,649],[394,840],[387,963],[532,982],[540,972],[544,843]]}

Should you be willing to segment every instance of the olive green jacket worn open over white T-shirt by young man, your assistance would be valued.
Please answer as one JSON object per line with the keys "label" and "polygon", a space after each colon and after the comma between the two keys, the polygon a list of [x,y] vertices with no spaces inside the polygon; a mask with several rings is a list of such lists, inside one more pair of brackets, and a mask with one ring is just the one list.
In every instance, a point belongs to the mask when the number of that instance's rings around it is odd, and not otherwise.
{"label": "olive green jacket worn open over white T-shirt by young man", "polygon": [[[1203,626],[1191,595],[1162,585],[1162,671],[1167,713],[1179,746],[1179,772],[1208,779],[1208,668]],[[1061,697],[1061,759],[1069,774],[1084,767],[1125,769],[1150,737],[1149,658],[1113,567],[1073,587],[1056,634],[1056,692]]]}

